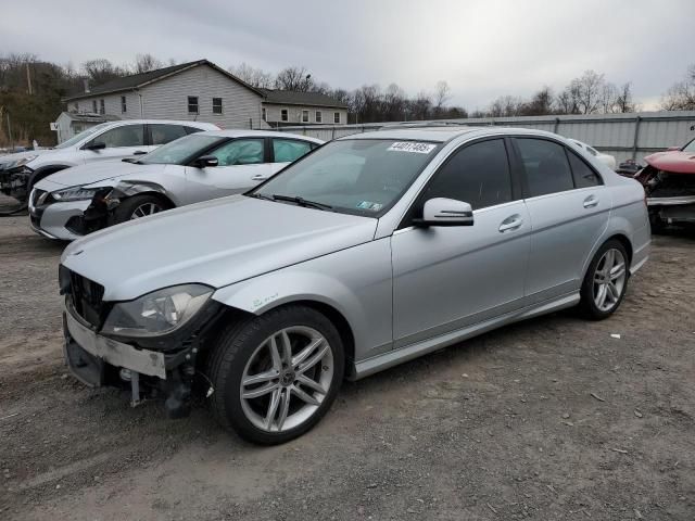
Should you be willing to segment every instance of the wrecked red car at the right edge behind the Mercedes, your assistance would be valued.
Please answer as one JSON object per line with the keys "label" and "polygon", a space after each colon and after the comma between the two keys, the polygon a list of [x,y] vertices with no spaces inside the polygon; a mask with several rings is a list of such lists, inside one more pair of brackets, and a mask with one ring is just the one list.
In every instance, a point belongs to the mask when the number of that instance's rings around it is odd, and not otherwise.
{"label": "wrecked red car at the right edge behind the Mercedes", "polygon": [[647,155],[635,179],[647,194],[652,228],[695,224],[695,139],[683,148]]}

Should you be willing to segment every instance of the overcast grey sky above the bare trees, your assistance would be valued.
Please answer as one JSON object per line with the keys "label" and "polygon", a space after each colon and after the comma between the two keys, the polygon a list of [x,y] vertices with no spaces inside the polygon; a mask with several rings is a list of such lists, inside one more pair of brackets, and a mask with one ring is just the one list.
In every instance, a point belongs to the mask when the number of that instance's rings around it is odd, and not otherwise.
{"label": "overcast grey sky above the bare trees", "polygon": [[469,111],[594,69],[632,81],[650,110],[695,63],[694,20],[693,0],[31,0],[3,7],[0,54],[299,65],[332,87],[410,96],[445,80]]}

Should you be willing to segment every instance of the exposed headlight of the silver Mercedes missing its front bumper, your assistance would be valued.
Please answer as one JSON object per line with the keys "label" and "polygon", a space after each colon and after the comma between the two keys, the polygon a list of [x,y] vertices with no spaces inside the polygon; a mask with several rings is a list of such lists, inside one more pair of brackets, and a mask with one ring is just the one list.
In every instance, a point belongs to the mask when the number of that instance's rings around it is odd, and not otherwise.
{"label": "exposed headlight of the silver Mercedes missing its front bumper", "polygon": [[213,289],[184,284],[157,290],[113,306],[102,332],[119,336],[157,336],[180,328],[207,302]]}

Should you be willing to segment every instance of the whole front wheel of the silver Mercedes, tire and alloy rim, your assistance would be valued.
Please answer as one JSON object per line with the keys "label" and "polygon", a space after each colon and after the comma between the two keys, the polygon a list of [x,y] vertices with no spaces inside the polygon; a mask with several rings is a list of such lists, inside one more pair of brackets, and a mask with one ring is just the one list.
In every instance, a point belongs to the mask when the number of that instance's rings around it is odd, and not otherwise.
{"label": "whole front wheel of the silver Mercedes, tire and alloy rim", "polygon": [[212,411],[252,443],[275,445],[312,429],[336,399],[344,351],[332,322],[306,306],[228,326],[212,348]]}

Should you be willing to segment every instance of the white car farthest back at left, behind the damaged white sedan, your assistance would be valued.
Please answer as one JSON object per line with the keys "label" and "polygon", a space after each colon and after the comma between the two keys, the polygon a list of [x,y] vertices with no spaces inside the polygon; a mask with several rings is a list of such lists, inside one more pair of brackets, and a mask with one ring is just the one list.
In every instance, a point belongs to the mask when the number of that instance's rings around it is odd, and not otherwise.
{"label": "white car farthest back at left, behind the damaged white sedan", "polygon": [[97,161],[147,154],[160,144],[203,130],[217,130],[211,123],[165,119],[125,119],[102,123],[58,147],[30,150],[0,157],[0,191],[25,202],[31,187],[51,174]]}

